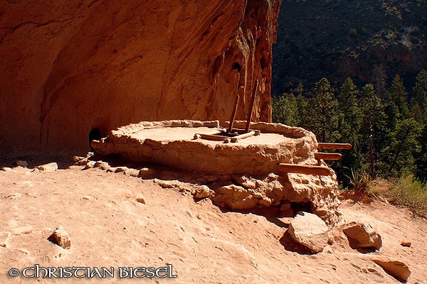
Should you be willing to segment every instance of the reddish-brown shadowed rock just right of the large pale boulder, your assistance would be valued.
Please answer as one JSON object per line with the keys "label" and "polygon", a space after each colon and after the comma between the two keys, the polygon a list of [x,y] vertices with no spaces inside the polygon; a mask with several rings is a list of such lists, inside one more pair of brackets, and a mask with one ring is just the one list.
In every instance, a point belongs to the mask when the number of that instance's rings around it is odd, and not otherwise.
{"label": "reddish-brown shadowed rock just right of the large pale boulder", "polygon": [[382,246],[381,236],[369,224],[351,222],[344,224],[342,231],[352,248],[379,250]]}

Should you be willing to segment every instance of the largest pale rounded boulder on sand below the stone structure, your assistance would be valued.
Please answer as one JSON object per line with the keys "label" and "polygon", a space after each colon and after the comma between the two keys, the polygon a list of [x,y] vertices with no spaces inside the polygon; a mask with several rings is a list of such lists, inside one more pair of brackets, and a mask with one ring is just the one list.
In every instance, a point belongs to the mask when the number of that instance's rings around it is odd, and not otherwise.
{"label": "largest pale rounded boulder on sand below the stone structure", "polygon": [[292,239],[319,253],[327,246],[329,231],[325,222],[315,214],[298,212],[289,224],[288,232]]}

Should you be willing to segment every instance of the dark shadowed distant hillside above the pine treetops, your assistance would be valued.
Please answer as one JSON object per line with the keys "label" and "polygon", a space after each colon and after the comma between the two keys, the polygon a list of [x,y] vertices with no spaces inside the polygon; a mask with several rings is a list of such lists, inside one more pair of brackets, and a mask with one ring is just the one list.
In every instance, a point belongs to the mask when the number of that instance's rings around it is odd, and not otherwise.
{"label": "dark shadowed distant hillside above the pine treetops", "polygon": [[351,77],[374,84],[382,97],[396,75],[413,87],[426,69],[425,0],[283,0],[273,45],[275,95],[299,82],[332,87]]}

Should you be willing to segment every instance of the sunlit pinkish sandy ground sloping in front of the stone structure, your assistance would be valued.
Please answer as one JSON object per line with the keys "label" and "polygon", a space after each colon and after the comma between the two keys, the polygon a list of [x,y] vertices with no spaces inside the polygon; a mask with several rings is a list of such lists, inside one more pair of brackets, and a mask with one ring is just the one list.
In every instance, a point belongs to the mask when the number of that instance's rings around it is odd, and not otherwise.
{"label": "sunlit pinkish sandy ground sloping in front of the stone structure", "polygon": [[[154,180],[76,165],[60,168],[0,171],[0,244],[6,245],[0,246],[0,283],[399,283],[371,255],[403,261],[411,270],[408,283],[427,283],[426,220],[384,202],[345,200],[341,206],[346,221],[378,231],[379,252],[351,249],[335,228],[334,244],[310,254],[288,236],[290,218],[274,209],[228,212]],[[137,202],[139,194],[146,204]],[[48,241],[58,226],[68,232],[70,249]],[[411,247],[401,246],[404,240]],[[36,264],[112,267],[115,275],[65,280],[8,275],[11,268],[22,273]],[[177,278],[119,278],[120,267],[149,266],[172,267],[169,273]]]}

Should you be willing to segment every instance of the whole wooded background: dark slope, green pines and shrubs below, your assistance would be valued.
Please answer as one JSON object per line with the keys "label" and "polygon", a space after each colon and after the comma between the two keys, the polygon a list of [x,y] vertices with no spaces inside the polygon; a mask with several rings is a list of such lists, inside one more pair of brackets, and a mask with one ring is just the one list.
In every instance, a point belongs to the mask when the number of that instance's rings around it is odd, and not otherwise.
{"label": "whole wooded background: dark slope, green pines and shrubs below", "polygon": [[[352,143],[343,188],[427,212],[425,0],[285,0],[273,45],[273,121]],[[375,189],[373,190],[376,191]]]}

